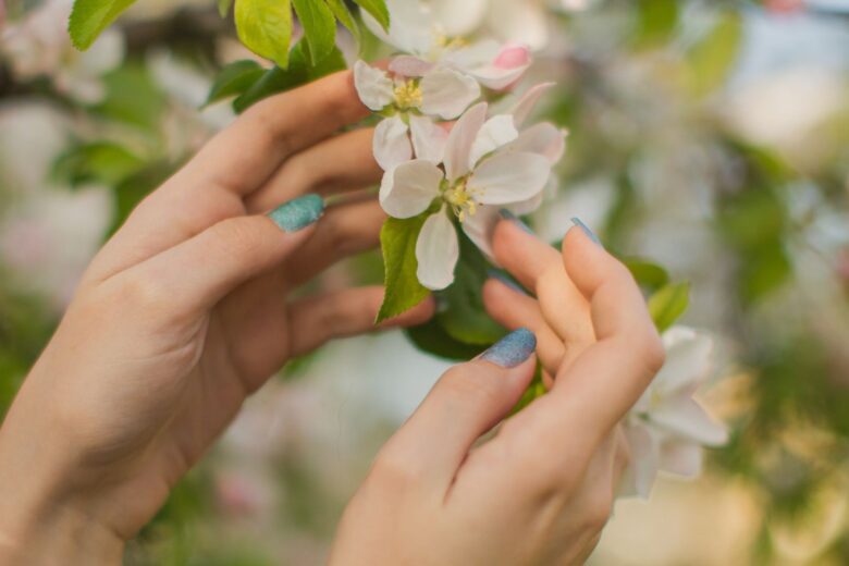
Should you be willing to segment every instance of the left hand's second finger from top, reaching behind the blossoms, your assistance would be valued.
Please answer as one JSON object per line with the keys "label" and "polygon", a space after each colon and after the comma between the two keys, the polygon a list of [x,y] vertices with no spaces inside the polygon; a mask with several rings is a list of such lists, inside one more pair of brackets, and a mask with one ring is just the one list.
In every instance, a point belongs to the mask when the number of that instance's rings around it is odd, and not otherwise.
{"label": "left hand's second finger from top, reaching behind the blossoms", "polygon": [[329,195],[379,183],[382,171],[371,149],[373,134],[372,128],[357,130],[291,157],[248,196],[248,211],[264,212],[306,193]]}

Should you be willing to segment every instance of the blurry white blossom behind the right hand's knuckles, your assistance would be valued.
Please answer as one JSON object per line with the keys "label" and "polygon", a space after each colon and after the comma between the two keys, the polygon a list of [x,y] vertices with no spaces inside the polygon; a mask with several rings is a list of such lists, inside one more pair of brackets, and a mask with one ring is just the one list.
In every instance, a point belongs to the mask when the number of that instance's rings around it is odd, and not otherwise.
{"label": "blurry white blossom behind the right hand's knuckles", "polygon": [[624,423],[631,463],[620,495],[648,497],[659,471],[694,478],[702,446],[727,442],[724,426],[712,420],[693,394],[712,370],[713,341],[686,327],[663,334],[666,364]]}

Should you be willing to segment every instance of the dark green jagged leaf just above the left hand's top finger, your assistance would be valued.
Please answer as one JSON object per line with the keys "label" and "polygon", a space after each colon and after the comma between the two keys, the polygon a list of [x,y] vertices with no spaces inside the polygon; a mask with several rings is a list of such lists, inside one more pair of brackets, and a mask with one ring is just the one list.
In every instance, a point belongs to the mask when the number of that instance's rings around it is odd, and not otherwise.
{"label": "dark green jagged leaf just above the left hand's top finger", "polygon": [[345,57],[336,47],[317,65],[308,63],[306,49],[303,39],[295,44],[290,53],[288,69],[275,66],[266,71],[259,81],[233,101],[233,109],[242,113],[263,98],[297,88],[346,67]]}

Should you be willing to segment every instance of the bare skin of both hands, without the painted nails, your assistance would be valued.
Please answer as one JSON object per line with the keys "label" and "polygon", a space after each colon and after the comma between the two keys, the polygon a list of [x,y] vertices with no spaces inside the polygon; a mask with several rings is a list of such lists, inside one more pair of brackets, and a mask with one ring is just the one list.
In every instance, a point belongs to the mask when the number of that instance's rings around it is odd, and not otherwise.
{"label": "bare skin of both hands, without the painted nails", "polygon": [[[374,330],[380,287],[290,295],[377,245],[379,205],[296,233],[264,216],[376,183],[372,132],[337,134],[366,115],[348,73],[255,106],[103,247],[0,429],[0,564],[120,564],[248,395],[293,356]],[[539,298],[491,281],[488,308],[537,332],[552,391],[475,448],[534,357],[448,371],[376,459],[334,564],[569,564],[594,546],[626,462],[616,423],[663,349],[627,270],[582,233],[563,257],[508,221],[494,244]]]}

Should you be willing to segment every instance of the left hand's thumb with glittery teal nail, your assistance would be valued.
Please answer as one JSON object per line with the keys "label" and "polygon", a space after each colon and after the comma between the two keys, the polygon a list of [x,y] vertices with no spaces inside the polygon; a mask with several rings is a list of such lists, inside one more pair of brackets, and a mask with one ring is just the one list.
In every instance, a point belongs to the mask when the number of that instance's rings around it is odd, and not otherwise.
{"label": "left hand's thumb with glittery teal nail", "polygon": [[291,200],[268,216],[234,217],[138,266],[181,311],[206,309],[300,247],[324,212],[318,195]]}

